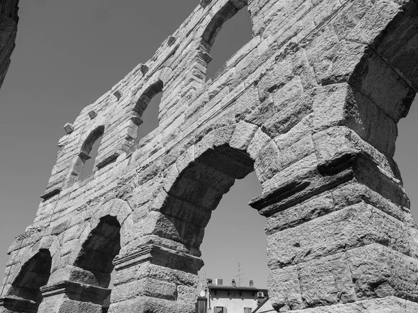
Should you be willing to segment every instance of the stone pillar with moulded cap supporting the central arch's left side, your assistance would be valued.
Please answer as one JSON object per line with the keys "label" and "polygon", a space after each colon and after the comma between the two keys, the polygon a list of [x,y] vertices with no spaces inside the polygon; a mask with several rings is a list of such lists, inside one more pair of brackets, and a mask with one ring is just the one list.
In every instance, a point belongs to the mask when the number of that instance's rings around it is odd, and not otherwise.
{"label": "stone pillar with moulded cap supporting the central arch's left side", "polygon": [[141,246],[115,261],[109,312],[194,313],[199,257],[156,245]]}

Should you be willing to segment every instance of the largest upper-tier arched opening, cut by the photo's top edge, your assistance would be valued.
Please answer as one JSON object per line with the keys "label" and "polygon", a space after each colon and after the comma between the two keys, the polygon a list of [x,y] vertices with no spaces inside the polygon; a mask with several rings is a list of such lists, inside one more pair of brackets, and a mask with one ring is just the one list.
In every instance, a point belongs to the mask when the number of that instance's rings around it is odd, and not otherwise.
{"label": "largest upper-tier arched opening, cut by the photo's top edge", "polygon": [[[203,67],[199,67],[201,75],[198,76],[206,77],[206,80],[215,79],[224,72],[226,61],[251,40],[252,24],[249,11],[242,10],[246,7],[246,0],[230,0],[212,17],[203,31],[199,44],[198,63],[201,63]],[[232,17],[234,17],[234,23],[229,22]],[[222,33],[224,34],[218,36],[223,27]],[[216,45],[217,48],[212,51],[215,38],[218,38],[219,42]],[[211,51],[215,58],[211,55]]]}

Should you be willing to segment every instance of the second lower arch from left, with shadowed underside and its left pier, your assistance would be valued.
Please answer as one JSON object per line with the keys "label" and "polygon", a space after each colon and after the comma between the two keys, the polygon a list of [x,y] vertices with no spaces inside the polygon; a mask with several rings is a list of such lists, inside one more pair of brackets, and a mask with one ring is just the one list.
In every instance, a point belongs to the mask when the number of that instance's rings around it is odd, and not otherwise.
{"label": "second lower arch from left, with shadowed underside and its left pier", "polygon": [[42,287],[45,297],[38,312],[50,312],[57,298],[66,310],[102,312],[110,296],[113,261],[131,240],[132,209],[121,199],[97,204],[93,216],[84,223],[79,238],[73,239],[68,264],[61,264],[49,284]]}

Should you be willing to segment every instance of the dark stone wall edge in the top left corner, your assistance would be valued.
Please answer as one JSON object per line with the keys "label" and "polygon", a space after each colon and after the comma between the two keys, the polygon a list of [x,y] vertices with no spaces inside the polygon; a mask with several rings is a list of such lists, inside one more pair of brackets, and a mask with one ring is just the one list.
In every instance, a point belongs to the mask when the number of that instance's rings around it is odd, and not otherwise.
{"label": "dark stone wall edge in the top left corner", "polygon": [[10,65],[10,56],[15,49],[19,0],[0,0],[0,88]]}

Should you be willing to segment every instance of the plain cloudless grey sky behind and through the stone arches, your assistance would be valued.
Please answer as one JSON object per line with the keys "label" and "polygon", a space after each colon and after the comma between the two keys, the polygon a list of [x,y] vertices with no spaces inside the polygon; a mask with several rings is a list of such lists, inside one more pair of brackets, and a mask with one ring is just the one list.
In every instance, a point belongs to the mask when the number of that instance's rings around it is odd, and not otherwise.
{"label": "plain cloudless grey sky behind and through the stone arches", "polygon": [[[63,125],[145,63],[173,33],[198,0],[21,0],[16,49],[0,90],[0,267],[8,246],[35,218],[55,163]],[[251,38],[247,13],[226,24],[212,49],[215,72]],[[155,99],[154,102],[157,102]],[[144,115],[152,129],[151,103]],[[156,111],[156,110],[154,110]],[[149,116],[149,118],[148,118]],[[418,218],[415,134],[412,105],[399,124],[395,160]],[[144,129],[145,127],[142,127]],[[247,202],[261,193],[254,174],[237,182],[212,214],[201,246],[208,278],[255,281],[266,287],[264,218]],[[1,271],[1,270],[0,270]]]}

